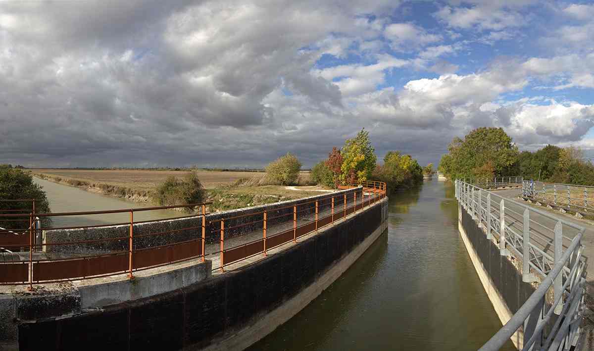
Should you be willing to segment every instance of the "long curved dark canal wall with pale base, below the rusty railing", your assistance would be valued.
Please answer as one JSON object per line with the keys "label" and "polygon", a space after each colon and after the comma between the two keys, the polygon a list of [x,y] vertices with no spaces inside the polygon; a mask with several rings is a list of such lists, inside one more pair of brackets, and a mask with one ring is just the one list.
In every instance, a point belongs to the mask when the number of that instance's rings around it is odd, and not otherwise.
{"label": "long curved dark canal wall with pale base, below the rusty railing", "polygon": [[296,314],[387,229],[387,199],[255,263],[168,293],[21,321],[20,350],[243,349]]}

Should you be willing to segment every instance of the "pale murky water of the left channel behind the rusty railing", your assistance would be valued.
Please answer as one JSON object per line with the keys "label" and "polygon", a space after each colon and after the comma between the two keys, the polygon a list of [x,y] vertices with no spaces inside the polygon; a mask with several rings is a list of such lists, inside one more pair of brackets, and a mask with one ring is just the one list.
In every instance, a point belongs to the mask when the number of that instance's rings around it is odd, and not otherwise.
{"label": "pale murky water of the left channel behind the rusty railing", "polygon": [[[48,195],[49,205],[53,213],[77,211],[121,210],[123,208],[151,207],[151,204],[139,204],[120,198],[94,194],[72,186],[56,184],[33,177],[34,182],[43,186]],[[153,219],[165,219],[184,216],[180,211],[154,210],[134,213],[134,222]],[[95,214],[86,216],[52,217],[52,227],[89,226],[94,224],[129,222],[129,213]]]}

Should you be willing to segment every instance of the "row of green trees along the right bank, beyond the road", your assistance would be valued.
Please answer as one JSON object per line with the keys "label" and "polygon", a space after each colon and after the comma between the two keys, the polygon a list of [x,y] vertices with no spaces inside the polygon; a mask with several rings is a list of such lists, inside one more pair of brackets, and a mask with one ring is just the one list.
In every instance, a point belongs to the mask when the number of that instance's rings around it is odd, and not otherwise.
{"label": "row of green trees along the right bank, beyond the road", "polygon": [[502,128],[482,127],[454,138],[438,167],[448,179],[523,176],[544,182],[594,185],[594,165],[577,147],[547,145],[519,151]]}

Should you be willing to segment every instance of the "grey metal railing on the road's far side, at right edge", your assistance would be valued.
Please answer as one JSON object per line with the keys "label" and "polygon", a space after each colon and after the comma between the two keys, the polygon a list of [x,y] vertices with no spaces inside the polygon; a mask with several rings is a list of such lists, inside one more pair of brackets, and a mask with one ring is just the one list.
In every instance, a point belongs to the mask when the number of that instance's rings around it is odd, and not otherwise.
{"label": "grey metal railing on the road's far side, at right edge", "polygon": [[568,210],[594,211],[594,186],[523,181],[522,195]]}

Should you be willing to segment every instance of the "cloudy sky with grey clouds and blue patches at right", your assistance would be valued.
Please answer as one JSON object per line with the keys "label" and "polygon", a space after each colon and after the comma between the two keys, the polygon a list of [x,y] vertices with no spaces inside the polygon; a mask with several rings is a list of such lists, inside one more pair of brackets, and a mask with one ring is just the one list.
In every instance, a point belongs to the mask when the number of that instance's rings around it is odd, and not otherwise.
{"label": "cloudy sky with grey clouds and blue patches at right", "polygon": [[361,128],[592,156],[593,37],[592,2],[0,1],[0,163],[309,167]]}

